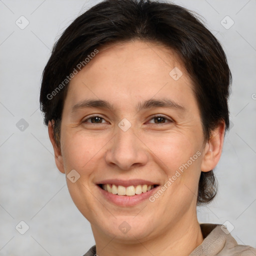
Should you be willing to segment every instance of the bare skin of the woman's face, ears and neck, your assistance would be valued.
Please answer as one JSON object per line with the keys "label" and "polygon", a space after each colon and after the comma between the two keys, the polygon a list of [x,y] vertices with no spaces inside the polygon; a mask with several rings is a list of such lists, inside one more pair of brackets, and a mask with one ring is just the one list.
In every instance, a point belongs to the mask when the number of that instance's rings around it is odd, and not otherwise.
{"label": "bare skin of the woman's face, ears and neck", "polygon": [[[178,80],[169,75],[173,67],[183,73]],[[74,183],[67,178],[67,186],[91,224],[98,255],[184,256],[203,241],[196,216],[198,180],[200,172],[213,169],[220,158],[225,125],[220,122],[204,141],[192,87],[172,50],[140,40],[103,47],[70,81],[60,148],[50,122],[48,132],[58,169],[66,175],[75,169],[80,175]],[[88,98],[108,100],[114,109],[80,108],[71,114],[73,105]],[[168,98],[185,109],[136,110],[137,102],[151,98]],[[103,119],[82,122],[91,114]],[[157,122],[155,114],[166,119]],[[131,123],[125,132],[117,125],[122,118]],[[197,151],[200,156],[154,202],[117,206],[105,200],[96,185],[109,178],[163,185]],[[118,228],[123,221],[130,225],[126,233]]]}

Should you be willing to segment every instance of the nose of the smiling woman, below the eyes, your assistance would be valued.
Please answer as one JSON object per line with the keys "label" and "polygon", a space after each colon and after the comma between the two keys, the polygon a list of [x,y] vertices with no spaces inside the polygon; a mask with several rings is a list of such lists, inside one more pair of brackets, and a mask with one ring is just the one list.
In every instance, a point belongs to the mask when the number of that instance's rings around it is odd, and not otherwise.
{"label": "nose of the smiling woman, below the eyes", "polygon": [[139,135],[135,134],[132,126],[126,131],[117,127],[115,136],[109,142],[109,149],[105,154],[108,165],[112,167],[116,165],[118,169],[128,170],[147,162],[146,145]]}

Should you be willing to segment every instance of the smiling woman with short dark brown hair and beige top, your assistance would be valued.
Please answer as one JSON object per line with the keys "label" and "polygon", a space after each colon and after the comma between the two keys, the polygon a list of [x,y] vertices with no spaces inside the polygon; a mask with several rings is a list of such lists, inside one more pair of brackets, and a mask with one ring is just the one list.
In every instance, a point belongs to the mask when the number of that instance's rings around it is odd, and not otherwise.
{"label": "smiling woman with short dark brown hair and beige top", "polygon": [[105,0],[54,45],[40,103],[58,169],[90,222],[89,255],[256,255],[199,224],[216,194],[231,74],[188,10]]}

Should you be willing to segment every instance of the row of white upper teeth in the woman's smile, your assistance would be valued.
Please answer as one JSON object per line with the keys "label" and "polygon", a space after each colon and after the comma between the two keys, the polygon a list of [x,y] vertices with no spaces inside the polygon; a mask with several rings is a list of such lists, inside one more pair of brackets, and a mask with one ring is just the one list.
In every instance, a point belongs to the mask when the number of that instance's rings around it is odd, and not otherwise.
{"label": "row of white upper teeth in the woman's smile", "polygon": [[147,185],[141,184],[136,186],[121,186],[121,185],[114,185],[114,184],[103,184],[103,189],[112,194],[118,195],[134,195],[134,194],[141,194],[145,193],[149,190],[154,188],[154,185]]}

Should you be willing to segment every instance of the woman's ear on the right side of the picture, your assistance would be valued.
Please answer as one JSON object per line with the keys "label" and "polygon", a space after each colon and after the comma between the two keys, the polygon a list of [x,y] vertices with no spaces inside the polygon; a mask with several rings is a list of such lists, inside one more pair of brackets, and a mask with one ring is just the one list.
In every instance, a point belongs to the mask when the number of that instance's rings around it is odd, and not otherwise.
{"label": "woman's ear on the right side of the picture", "polygon": [[222,152],[224,134],[225,122],[222,120],[211,132],[210,138],[205,144],[201,171],[210,171],[217,165]]}

